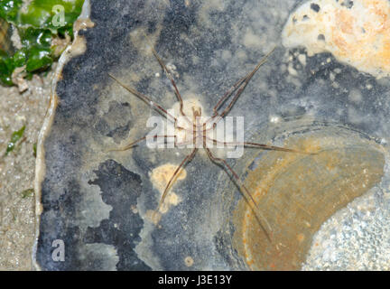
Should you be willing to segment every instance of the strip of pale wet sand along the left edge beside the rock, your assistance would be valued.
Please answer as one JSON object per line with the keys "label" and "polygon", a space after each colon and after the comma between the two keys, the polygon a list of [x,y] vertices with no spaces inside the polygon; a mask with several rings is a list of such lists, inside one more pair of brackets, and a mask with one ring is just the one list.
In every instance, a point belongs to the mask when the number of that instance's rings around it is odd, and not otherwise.
{"label": "strip of pale wet sand along the left edge beside the rock", "polygon": [[[51,74],[34,76],[29,89],[0,86],[0,270],[31,270],[34,238],[35,172],[33,144],[49,104]],[[14,151],[5,149],[14,131],[25,126]]]}

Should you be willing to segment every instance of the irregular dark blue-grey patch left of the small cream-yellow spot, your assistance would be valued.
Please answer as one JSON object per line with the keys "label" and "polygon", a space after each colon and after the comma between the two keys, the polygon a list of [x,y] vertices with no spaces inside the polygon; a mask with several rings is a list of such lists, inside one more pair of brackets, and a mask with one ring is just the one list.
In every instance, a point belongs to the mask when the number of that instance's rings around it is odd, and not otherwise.
{"label": "irregular dark blue-grey patch left of the small cream-yellow spot", "polygon": [[134,251],[136,243],[141,241],[138,234],[144,226],[143,219],[133,211],[142,191],[140,176],[127,171],[113,160],[101,163],[98,171],[94,172],[98,178],[88,183],[100,187],[103,201],[112,206],[113,210],[110,211],[109,219],[102,220],[98,228],[87,229],[85,242],[116,247],[118,270],[150,269]]}

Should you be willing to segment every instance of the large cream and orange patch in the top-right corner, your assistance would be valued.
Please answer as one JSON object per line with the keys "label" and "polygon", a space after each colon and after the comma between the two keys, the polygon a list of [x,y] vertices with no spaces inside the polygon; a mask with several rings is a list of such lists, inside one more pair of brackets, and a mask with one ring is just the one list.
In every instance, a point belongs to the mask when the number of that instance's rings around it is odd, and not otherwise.
{"label": "large cream and orange patch in the top-right corner", "polygon": [[338,61],[382,78],[390,76],[389,29],[388,0],[308,1],[290,15],[283,45],[303,45],[310,56],[327,51]]}

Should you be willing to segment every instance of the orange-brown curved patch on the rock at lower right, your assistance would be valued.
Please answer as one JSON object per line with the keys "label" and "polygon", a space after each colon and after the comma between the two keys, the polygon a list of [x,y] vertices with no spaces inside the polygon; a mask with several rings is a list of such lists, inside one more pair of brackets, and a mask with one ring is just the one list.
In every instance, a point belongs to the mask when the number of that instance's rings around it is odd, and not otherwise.
{"label": "orange-brown curved patch on the rock at lower right", "polygon": [[233,244],[250,268],[300,269],[321,224],[380,182],[385,156],[377,144],[348,140],[352,143],[330,135],[295,139],[285,146],[319,154],[272,151],[247,171],[246,187],[272,228],[270,242],[260,226],[264,224],[240,200]]}

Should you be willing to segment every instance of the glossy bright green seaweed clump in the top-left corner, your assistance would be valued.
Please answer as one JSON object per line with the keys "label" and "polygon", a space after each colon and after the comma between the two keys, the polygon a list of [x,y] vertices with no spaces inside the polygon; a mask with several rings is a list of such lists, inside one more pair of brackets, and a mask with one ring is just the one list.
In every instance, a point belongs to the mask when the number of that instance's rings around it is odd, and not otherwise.
{"label": "glossy bright green seaweed clump in the top-left corner", "polygon": [[12,74],[18,67],[25,66],[26,79],[49,69],[59,57],[53,39],[73,38],[73,23],[83,4],[84,0],[32,0],[23,7],[23,0],[0,0],[0,18],[16,27],[22,42],[13,55],[0,50],[0,82],[14,85]]}

